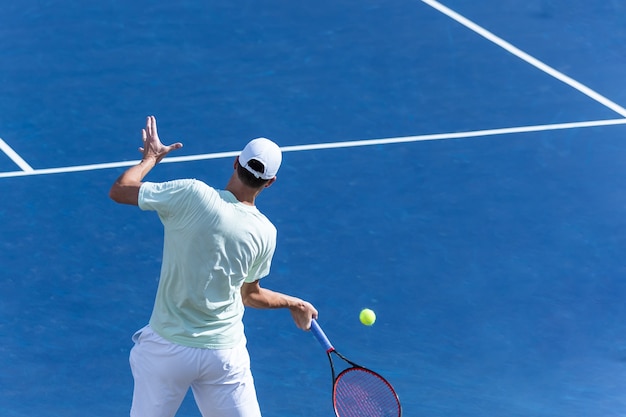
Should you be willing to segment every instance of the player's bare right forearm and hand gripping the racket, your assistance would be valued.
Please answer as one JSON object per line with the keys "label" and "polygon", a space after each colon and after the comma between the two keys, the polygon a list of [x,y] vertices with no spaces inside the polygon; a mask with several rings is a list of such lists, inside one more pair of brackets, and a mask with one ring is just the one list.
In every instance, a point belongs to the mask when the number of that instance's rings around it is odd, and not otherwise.
{"label": "player's bare right forearm and hand gripping the racket", "polygon": [[288,308],[296,326],[302,330],[309,330],[311,320],[317,318],[317,310],[308,301],[262,288],[258,280],[243,284],[241,298],[247,307]]}

